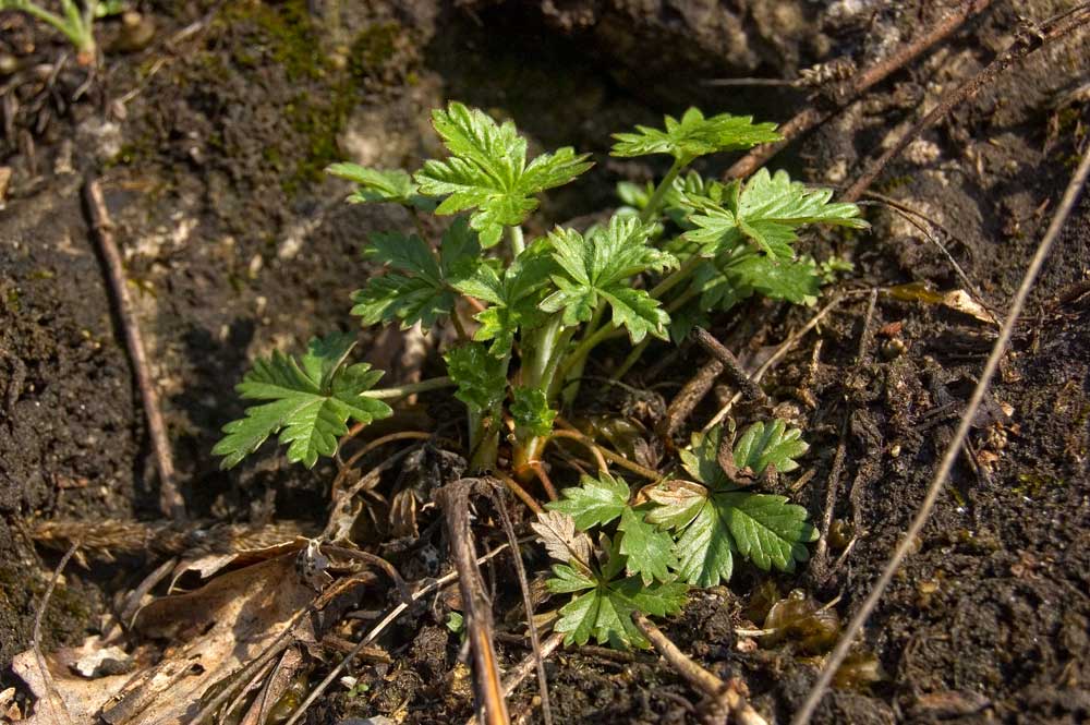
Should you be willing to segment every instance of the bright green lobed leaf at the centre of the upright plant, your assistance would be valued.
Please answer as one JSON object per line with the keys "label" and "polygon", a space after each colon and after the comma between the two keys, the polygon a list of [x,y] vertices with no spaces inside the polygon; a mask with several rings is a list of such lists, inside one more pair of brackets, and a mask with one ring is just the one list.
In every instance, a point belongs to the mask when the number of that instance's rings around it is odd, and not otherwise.
{"label": "bright green lobed leaf at the centre of the upright plant", "polygon": [[674,255],[647,245],[650,228],[632,217],[614,216],[608,227],[589,231],[557,228],[549,233],[553,257],[561,273],[553,276],[557,291],[541,303],[545,312],[564,311],[564,324],[590,321],[601,301],[613,310],[613,322],[628,329],[632,342],[649,334],[666,339],[669,315],[644,290],[628,281],[643,271],[677,266]]}

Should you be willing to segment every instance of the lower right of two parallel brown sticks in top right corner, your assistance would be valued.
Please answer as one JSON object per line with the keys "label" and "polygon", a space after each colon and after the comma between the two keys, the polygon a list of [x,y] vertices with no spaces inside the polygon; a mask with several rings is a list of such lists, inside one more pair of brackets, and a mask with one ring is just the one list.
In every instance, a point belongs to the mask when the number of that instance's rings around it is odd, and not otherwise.
{"label": "lower right of two parallel brown sticks in top right corner", "polygon": [[920,133],[931,126],[935,121],[943,118],[949,113],[954,108],[960,106],[965,101],[976,97],[978,93],[989,83],[995,80],[995,77],[1006,70],[1012,63],[1017,60],[1021,60],[1026,56],[1030,55],[1038,48],[1044,46],[1049,40],[1055,40],[1056,38],[1063,37],[1064,35],[1070,33],[1071,31],[1082,27],[1086,25],[1088,20],[1088,9],[1090,9],[1090,3],[1083,3],[1077,8],[1050,17],[1049,20],[1041,23],[1040,26],[1032,28],[1022,28],[1018,35],[1015,37],[1014,43],[1000,53],[1000,56],[993,60],[991,63],[984,67],[982,71],[973,75],[971,78],[947,92],[938,100],[938,104],[931,109],[923,118],[918,120],[912,124],[896,144],[891,146],[879,160],[871,165],[856,183],[851,184],[847,192],[845,192],[841,201],[855,202],[863,192],[877,179],[879,174],[889,162],[891,159],[897,157],[905,147],[908,146],[915,138],[917,138]]}

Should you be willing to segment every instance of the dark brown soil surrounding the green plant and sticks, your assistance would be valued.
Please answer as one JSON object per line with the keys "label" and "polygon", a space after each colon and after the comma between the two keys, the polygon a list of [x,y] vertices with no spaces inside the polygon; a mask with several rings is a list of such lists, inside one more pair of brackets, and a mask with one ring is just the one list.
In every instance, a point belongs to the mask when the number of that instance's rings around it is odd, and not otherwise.
{"label": "dark brown soil surrounding the green plant and sticks", "polygon": [[[209,451],[219,427],[241,411],[231,386],[249,361],[314,334],[354,329],[348,295],[370,271],[358,261],[361,241],[409,225],[398,210],[342,204],[346,188],[322,174],[328,162],[414,168],[438,153],[428,109],[464,100],[512,118],[534,146],[595,154],[593,172],[552,195],[534,218],[531,230],[541,231],[615,204],[613,185],[622,177],[662,171],[609,158],[609,133],[657,123],[689,104],[786,120],[813,102],[807,93],[704,81],[797,77],[844,56],[865,65],[946,5],[138,4],[154,34],[137,37],[117,19],[102,21],[107,53],[90,77],[55,34],[0,13],[0,55],[16,67],[0,71],[0,167],[11,171],[0,190],[0,690],[22,687],[9,664],[31,643],[59,558],[34,545],[35,522],[159,516],[132,366],[81,208],[84,174],[97,176],[106,191],[191,515],[322,521],[331,466],[304,471],[269,452],[223,473]],[[1073,4],[994,2],[773,167],[816,183],[850,182],[921,108],[1006,47],[1019,13],[1042,20]],[[1009,304],[1087,143],[1088,82],[1090,36],[1050,44],[913,142],[874,188],[944,226],[950,254],[997,311]],[[845,619],[922,499],[995,334],[921,295],[872,298],[875,287],[965,285],[935,245],[888,208],[870,207],[868,216],[869,233],[806,240],[820,258],[836,253],[855,264],[825,299],[848,297],[765,382],[811,444],[803,462],[812,478],[798,503],[821,520],[832,499],[838,527],[856,537],[850,551],[834,546],[775,584],[780,594],[801,588],[818,602],[835,601]],[[814,722],[1090,720],[1087,279],[1085,194],[967,452],[871,617],[855,669]],[[716,321],[715,331],[753,367],[813,313],[753,302]],[[364,331],[361,340],[388,379],[401,379],[397,335]],[[667,352],[653,348],[649,359]],[[667,372],[637,372],[628,382],[668,398],[702,362],[685,346]],[[714,413],[713,397],[691,424]],[[419,414],[446,420],[444,406],[441,396],[427,398]],[[435,520],[428,516],[422,531]],[[405,551],[420,576],[438,571],[441,553],[433,546]],[[45,612],[43,647],[96,631],[114,596],[155,566],[153,557],[122,557],[70,567]],[[528,566],[543,570],[544,561]],[[827,648],[761,647],[738,637],[747,617],[760,625],[753,600],[767,580],[740,571],[729,589],[694,594],[664,630],[716,674],[741,676],[758,710],[787,722]],[[500,619],[514,609],[517,629],[519,600],[496,605]],[[445,611],[402,618],[384,642],[396,664],[365,668],[363,696],[342,688],[319,701],[308,722],[376,714],[463,722],[472,694]],[[518,644],[498,647],[505,665],[525,655]],[[546,669],[556,722],[697,722],[699,698],[656,657],[576,649],[550,657]],[[535,688],[531,678],[512,696],[513,712],[531,706]]]}

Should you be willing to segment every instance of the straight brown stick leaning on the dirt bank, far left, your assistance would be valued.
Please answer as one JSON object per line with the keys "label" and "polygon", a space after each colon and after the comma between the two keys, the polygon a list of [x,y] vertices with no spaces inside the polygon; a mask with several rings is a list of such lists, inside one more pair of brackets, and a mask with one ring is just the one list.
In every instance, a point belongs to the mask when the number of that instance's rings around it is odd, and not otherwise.
{"label": "straight brown stick leaning on the dirt bank, far left", "polygon": [[185,502],[178,493],[170,440],[167,438],[167,426],[159,410],[159,394],[155,389],[155,382],[147,367],[144,338],[141,336],[136,311],[129,297],[121,253],[113,242],[113,223],[110,221],[97,179],[88,179],[84,184],[83,198],[90,221],[92,237],[97,242],[98,251],[106,264],[110,291],[118,307],[118,319],[121,321],[125,347],[129,349],[129,358],[133,362],[133,373],[136,376],[136,387],[140,388],[141,400],[144,403],[144,416],[147,419],[152,450],[155,452],[155,463],[159,471],[159,510],[164,516],[180,521],[185,518]]}

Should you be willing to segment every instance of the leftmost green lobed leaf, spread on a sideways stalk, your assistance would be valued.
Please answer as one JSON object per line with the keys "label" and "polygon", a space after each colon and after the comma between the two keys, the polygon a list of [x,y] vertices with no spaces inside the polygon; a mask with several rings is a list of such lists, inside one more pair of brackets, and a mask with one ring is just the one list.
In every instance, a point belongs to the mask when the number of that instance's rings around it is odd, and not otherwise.
{"label": "leftmost green lobed leaf, spread on a sideways stalk", "polygon": [[272,402],[247,408],[245,418],[223,426],[227,435],[213,448],[225,457],[221,468],[237,466],[276,433],[288,445],[288,460],[313,468],[318,456],[337,450],[348,419],[367,424],[392,415],[385,402],[363,397],[382,371],[344,364],[353,346],[353,336],[335,334],[311,340],[301,361],[278,351],[255,361],[235,389],[243,399]]}

